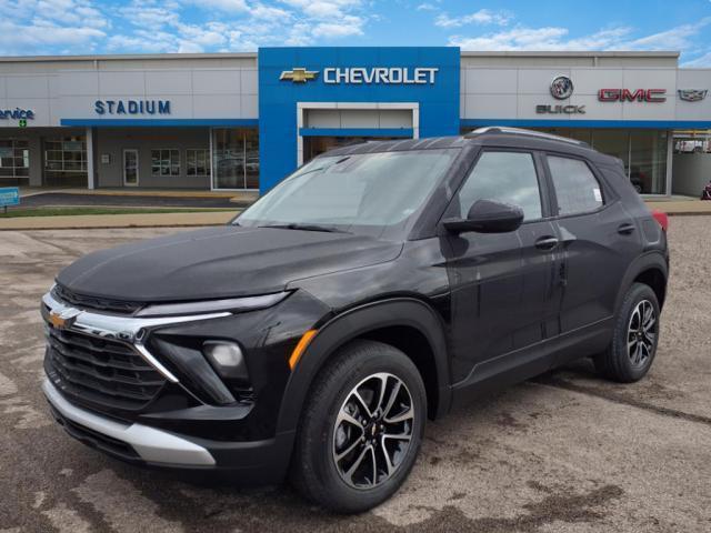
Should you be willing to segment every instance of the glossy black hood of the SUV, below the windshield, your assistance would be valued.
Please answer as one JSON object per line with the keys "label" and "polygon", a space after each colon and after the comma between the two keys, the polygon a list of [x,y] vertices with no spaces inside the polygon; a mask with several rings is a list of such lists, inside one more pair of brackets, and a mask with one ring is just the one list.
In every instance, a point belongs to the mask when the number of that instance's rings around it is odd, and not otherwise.
{"label": "glossy black hood of the SUV, below the windshield", "polygon": [[401,250],[401,242],[348,233],[222,227],[90,253],[57,281],[79,294],[134,302],[242,296],[391,261]]}

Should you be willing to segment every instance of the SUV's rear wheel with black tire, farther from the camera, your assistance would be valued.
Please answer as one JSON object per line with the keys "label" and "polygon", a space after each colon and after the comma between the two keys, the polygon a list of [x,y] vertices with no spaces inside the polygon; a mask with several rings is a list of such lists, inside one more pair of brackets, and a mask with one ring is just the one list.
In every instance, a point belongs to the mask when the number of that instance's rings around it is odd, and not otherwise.
{"label": "SUV's rear wheel with black tire, farther from the camera", "polygon": [[[649,306],[647,306],[647,303]],[[643,320],[643,310],[650,309],[653,313],[653,324],[647,329]],[[642,311],[641,311],[642,310]],[[633,316],[635,311],[638,319]],[[634,283],[624,295],[614,322],[614,332],[610,346],[595,358],[595,369],[603,376],[620,383],[639,381],[652,365],[659,343],[659,301],[654,291],[643,283]],[[638,332],[634,332],[638,330]],[[651,332],[652,339],[648,334]],[[635,343],[629,345],[629,343]],[[641,344],[640,344],[641,343]],[[639,349],[639,351],[637,351]]]}

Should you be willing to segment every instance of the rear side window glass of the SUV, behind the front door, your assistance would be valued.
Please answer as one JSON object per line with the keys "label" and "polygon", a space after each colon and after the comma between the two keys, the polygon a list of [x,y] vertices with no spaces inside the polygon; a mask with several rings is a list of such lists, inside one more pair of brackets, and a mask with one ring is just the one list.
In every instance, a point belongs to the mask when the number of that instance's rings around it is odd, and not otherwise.
{"label": "rear side window glass of the SUV, behind the front door", "polygon": [[549,155],[548,167],[558,199],[558,214],[588,213],[602,205],[600,182],[583,161]]}

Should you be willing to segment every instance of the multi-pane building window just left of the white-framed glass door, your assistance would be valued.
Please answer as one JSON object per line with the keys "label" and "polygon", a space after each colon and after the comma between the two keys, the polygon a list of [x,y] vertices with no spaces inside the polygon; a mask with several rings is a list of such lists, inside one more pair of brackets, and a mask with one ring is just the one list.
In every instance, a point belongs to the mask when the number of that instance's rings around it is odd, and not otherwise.
{"label": "multi-pane building window just left of the white-framed glass door", "polygon": [[44,140],[44,184],[87,187],[84,135]]}

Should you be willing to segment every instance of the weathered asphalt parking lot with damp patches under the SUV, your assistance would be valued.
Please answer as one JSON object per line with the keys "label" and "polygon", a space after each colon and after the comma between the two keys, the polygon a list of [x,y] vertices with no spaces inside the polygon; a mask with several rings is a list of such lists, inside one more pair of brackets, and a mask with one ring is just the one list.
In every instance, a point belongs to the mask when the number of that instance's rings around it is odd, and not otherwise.
{"label": "weathered asphalt parking lot with damp patches under the SUV", "polygon": [[82,253],[153,230],[0,234],[0,532],[711,531],[711,217],[671,219],[672,278],[647,379],[587,362],[430,423],[403,490],[334,516],[286,487],[137,470],[73,441],[40,392],[39,299]]}

